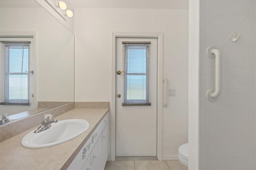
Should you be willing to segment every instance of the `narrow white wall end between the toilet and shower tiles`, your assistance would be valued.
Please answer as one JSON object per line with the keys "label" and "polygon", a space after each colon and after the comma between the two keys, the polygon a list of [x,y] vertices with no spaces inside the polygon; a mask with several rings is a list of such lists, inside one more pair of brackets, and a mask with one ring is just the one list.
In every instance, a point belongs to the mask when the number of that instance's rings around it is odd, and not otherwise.
{"label": "narrow white wall end between the toilet and shower tiles", "polygon": [[199,0],[189,0],[188,168],[198,170]]}

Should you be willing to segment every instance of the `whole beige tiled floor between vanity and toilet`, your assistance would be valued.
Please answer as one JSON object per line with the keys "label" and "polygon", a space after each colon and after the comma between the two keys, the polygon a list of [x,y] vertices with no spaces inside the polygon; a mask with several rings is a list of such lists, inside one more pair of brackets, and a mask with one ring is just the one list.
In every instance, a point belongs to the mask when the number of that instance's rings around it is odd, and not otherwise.
{"label": "whole beige tiled floor between vanity and toilet", "polygon": [[108,161],[105,170],[188,170],[178,160],[116,160]]}

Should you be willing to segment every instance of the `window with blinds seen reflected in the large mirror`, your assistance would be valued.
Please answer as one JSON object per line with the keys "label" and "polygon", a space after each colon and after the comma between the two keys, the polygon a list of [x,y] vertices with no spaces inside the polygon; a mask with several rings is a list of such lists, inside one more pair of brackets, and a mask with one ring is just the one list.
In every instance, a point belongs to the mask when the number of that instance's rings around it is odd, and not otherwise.
{"label": "window with blinds seen reflected in the large mirror", "polygon": [[1,105],[29,105],[29,41],[0,41]]}

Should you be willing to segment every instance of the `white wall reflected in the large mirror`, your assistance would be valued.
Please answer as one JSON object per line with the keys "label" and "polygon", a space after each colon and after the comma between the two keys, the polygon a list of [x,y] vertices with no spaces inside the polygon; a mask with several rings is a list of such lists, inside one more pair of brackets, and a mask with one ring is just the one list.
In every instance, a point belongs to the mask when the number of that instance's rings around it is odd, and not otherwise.
{"label": "white wall reflected in the large mirror", "polygon": [[[34,97],[39,102],[74,101],[74,35],[42,7],[0,9],[1,34],[37,33]],[[0,111],[11,115],[36,106],[0,106]]]}

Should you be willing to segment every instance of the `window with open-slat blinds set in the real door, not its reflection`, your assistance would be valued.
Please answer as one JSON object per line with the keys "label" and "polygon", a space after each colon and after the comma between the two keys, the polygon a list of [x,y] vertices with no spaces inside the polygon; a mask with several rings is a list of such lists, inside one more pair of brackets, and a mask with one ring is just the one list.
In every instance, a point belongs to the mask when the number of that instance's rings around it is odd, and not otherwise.
{"label": "window with open-slat blinds set in the real door, not its reflection", "polygon": [[122,42],[122,106],[150,106],[150,42]]}

